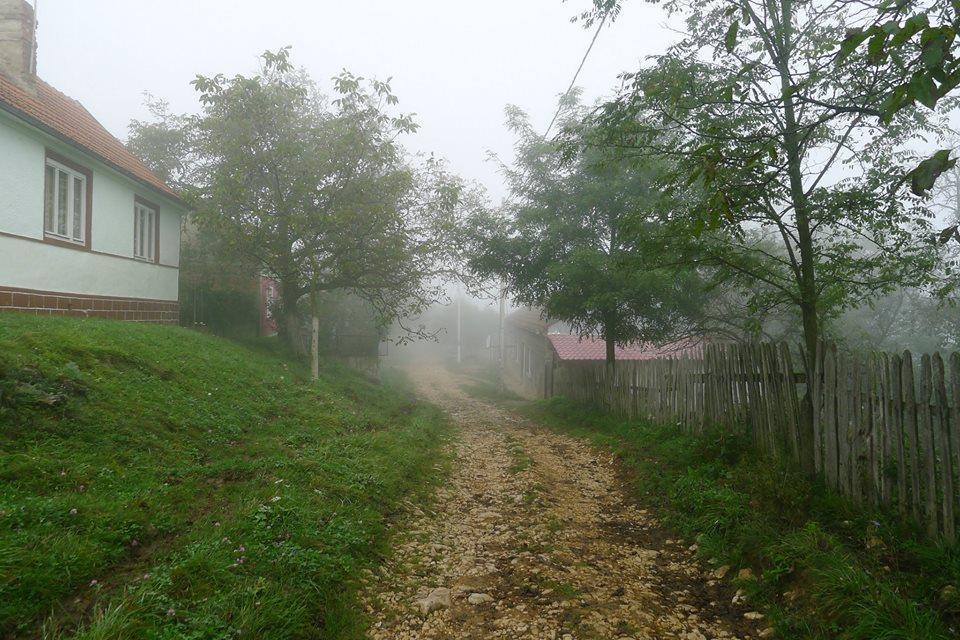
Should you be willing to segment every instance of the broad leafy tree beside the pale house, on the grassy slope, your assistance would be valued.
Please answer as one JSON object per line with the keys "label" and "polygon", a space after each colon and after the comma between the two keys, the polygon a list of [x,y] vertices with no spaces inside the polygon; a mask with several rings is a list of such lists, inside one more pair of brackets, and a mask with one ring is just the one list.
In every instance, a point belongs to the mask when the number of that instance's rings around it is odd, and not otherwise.
{"label": "broad leafy tree beside the pale house, on the grassy slope", "polygon": [[344,73],[327,104],[281,50],[257,75],[193,84],[197,219],[277,278],[286,335],[305,296],[356,295],[387,325],[440,295],[468,189],[398,144],[417,125],[389,83]]}

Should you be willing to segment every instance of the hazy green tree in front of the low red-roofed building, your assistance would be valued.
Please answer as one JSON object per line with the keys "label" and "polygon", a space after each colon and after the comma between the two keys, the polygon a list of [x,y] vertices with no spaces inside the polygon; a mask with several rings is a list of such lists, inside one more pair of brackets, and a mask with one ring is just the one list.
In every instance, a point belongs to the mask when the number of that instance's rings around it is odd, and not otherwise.
{"label": "hazy green tree in front of the low red-roofed building", "polygon": [[[584,116],[575,96],[561,106],[564,126]],[[518,138],[516,167],[504,168],[512,202],[497,224],[484,225],[474,270],[505,281],[515,302],[602,337],[611,365],[617,344],[689,335],[702,302],[697,275],[654,264],[663,255],[662,168],[589,147],[562,163],[561,145],[520,110],[508,109],[508,126]]]}

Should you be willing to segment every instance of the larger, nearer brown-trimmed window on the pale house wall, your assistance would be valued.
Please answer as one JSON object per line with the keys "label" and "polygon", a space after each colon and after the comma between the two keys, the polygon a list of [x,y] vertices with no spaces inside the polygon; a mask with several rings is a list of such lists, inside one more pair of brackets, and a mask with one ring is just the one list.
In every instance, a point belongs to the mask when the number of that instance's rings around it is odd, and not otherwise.
{"label": "larger, nearer brown-trimmed window on the pale house wall", "polygon": [[56,160],[47,159],[43,187],[43,231],[48,237],[86,243],[88,177]]}

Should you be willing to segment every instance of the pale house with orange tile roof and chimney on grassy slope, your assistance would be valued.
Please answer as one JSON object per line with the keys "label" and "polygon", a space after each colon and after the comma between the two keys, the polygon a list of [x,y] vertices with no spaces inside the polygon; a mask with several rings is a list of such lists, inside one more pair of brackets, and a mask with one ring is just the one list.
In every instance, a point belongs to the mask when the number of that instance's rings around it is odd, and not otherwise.
{"label": "pale house with orange tile roof and chimney on grassy slope", "polygon": [[176,322],[186,207],[37,77],[35,36],[0,0],[0,309]]}

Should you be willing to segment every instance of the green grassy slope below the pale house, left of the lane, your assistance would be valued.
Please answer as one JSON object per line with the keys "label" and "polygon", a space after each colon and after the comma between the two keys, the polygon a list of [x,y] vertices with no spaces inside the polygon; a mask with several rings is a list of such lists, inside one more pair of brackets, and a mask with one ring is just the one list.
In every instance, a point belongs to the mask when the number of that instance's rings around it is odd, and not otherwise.
{"label": "green grassy slope below the pale house, left of the lane", "polygon": [[0,637],[358,638],[439,412],[168,327],[0,316]]}

